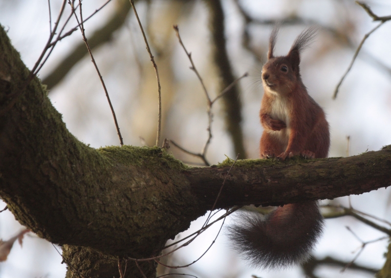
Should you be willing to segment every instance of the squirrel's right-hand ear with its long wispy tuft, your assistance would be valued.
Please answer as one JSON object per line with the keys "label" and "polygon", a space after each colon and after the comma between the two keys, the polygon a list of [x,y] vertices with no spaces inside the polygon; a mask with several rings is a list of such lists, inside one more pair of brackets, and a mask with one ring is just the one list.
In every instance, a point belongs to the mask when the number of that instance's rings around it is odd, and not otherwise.
{"label": "squirrel's right-hand ear with its long wispy tuft", "polygon": [[318,28],[315,26],[305,29],[296,38],[292,47],[289,50],[288,58],[292,62],[292,68],[294,71],[299,68],[300,65],[300,53],[309,46],[309,44],[315,39]]}

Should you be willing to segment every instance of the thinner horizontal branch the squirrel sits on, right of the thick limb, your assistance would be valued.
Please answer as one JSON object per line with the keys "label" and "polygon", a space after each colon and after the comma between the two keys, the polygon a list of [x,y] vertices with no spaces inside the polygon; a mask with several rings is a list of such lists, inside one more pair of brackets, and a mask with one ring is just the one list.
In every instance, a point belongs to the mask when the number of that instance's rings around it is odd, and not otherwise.
{"label": "thinner horizontal branch the squirrel sits on, right of the thick limb", "polygon": [[[193,194],[212,206],[232,165],[192,168]],[[391,185],[391,146],[359,156],[330,159],[238,160],[225,181],[216,208],[232,205],[282,205],[362,194]]]}

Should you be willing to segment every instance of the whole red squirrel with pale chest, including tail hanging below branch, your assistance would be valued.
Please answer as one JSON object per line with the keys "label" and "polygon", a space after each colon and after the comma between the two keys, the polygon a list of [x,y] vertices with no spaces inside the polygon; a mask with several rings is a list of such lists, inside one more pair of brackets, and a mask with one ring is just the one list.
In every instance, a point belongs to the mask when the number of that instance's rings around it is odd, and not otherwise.
{"label": "whole red squirrel with pale chest, including tail hanging below branch", "polygon": [[[262,68],[264,94],[260,118],[263,133],[261,158],[284,160],[326,158],[330,145],[323,109],[312,99],[300,76],[300,55],[314,39],[316,29],[304,30],[288,55],[273,54],[278,27],[269,40],[267,62]],[[286,204],[262,218],[241,214],[229,227],[229,237],[248,262],[263,268],[286,268],[309,257],[323,230],[317,201]]]}

